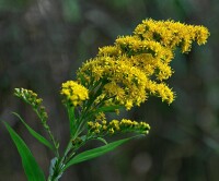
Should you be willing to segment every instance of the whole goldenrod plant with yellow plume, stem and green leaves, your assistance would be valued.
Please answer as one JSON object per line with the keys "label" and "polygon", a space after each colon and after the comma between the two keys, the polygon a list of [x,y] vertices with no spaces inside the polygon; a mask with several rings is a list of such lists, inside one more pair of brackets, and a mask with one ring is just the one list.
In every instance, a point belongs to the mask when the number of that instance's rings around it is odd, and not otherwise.
{"label": "whole goldenrod plant with yellow plume, stem and green leaves", "polygon": [[[48,116],[43,100],[30,89],[15,88],[14,95],[33,108],[48,133],[46,138],[13,112],[28,132],[54,153],[47,181],[59,180],[72,165],[106,154],[131,138],[147,135],[150,130],[148,123],[126,118],[107,120],[106,114],[119,114],[124,108],[128,111],[150,96],[171,104],[175,93],[165,80],[174,72],[170,62],[176,47],[182,53],[187,53],[193,41],[204,45],[208,36],[209,32],[204,26],[149,19],[143,20],[132,35],[119,36],[113,46],[100,48],[96,57],[84,62],[78,70],[74,81],[61,85],[60,97],[68,112],[70,131],[64,152],[59,150],[59,142],[47,123]],[[27,179],[46,180],[24,141],[7,122],[4,124],[22,158]],[[107,137],[116,134],[125,134],[126,138],[107,143]],[[103,145],[81,152],[80,148],[93,140],[103,142]]]}

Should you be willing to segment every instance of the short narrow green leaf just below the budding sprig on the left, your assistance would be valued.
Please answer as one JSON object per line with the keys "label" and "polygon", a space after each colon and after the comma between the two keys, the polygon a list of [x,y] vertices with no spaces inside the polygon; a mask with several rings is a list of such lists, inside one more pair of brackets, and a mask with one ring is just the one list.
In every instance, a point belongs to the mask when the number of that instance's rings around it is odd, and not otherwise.
{"label": "short narrow green leaf just below the budding sprig on the left", "polygon": [[31,126],[28,126],[27,123],[25,123],[25,121],[20,117],[20,114],[18,114],[16,112],[12,112],[14,116],[16,116],[20,121],[25,125],[25,128],[28,130],[28,132],[42,144],[44,144],[45,146],[47,146],[48,148],[50,148],[51,150],[54,150],[54,146],[53,144],[46,140],[44,136],[42,136],[41,134],[38,134],[37,132],[35,132]]}

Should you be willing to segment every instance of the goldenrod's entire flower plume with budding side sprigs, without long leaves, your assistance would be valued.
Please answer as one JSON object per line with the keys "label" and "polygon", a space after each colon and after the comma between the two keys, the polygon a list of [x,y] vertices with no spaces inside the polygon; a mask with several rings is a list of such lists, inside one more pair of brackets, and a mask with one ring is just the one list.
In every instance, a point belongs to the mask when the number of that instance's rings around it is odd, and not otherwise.
{"label": "goldenrod's entire flower plume with budding side sprigs, without long leaves", "polygon": [[[132,35],[119,36],[113,46],[100,48],[96,57],[78,70],[76,81],[61,85],[60,95],[68,109],[71,136],[74,135],[72,143],[81,143],[80,133],[85,130],[87,138],[119,132],[147,134],[149,124],[127,119],[107,121],[105,113],[119,113],[123,107],[129,110],[149,96],[171,104],[175,94],[165,81],[174,72],[170,62],[175,48],[186,53],[193,41],[203,45],[208,36],[204,26],[149,19],[142,21]],[[15,95],[32,105],[47,128],[42,99],[23,88],[16,88]]]}

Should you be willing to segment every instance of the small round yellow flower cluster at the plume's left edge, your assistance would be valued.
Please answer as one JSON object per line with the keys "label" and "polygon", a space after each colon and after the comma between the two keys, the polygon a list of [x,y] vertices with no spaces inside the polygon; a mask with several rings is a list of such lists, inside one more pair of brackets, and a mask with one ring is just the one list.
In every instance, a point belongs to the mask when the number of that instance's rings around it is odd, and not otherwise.
{"label": "small round yellow flower cluster at the plume's left edge", "polygon": [[72,106],[78,106],[89,98],[89,90],[74,81],[62,83],[60,94],[64,96],[64,102]]}

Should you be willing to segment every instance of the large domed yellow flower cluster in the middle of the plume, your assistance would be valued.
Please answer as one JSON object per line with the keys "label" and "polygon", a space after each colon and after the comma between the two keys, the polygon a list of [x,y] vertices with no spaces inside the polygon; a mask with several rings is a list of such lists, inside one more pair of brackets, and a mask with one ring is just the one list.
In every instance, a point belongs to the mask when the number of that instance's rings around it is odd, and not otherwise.
{"label": "large domed yellow flower cluster in the middle of the plume", "polygon": [[130,109],[134,104],[139,105],[146,99],[145,87],[149,80],[128,61],[100,57],[84,64],[82,69],[92,72],[91,77],[95,79],[94,82],[101,82],[103,90],[99,98],[107,99],[107,105],[112,102]]}

